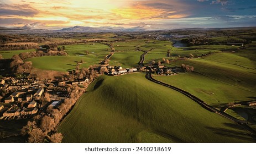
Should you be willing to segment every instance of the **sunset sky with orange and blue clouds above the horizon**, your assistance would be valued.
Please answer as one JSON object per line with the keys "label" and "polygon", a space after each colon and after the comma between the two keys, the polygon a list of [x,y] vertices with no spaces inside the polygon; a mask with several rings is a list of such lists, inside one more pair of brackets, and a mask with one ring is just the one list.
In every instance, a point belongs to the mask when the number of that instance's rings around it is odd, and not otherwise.
{"label": "sunset sky with orange and blue clouds above the horizon", "polygon": [[0,26],[148,30],[256,26],[256,0],[0,0]]}

